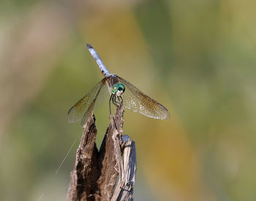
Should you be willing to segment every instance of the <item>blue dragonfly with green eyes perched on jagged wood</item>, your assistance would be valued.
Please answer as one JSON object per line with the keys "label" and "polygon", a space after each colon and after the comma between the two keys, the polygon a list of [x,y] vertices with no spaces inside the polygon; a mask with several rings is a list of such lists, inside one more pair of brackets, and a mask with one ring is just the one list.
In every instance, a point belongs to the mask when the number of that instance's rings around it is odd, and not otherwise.
{"label": "blue dragonfly with green eyes perched on jagged wood", "polygon": [[108,95],[110,95],[109,108],[112,102],[113,105],[122,105],[150,118],[166,119],[170,117],[168,110],[159,102],[151,99],[124,78],[111,74],[90,44],[87,44],[87,48],[97,62],[104,78],[70,108],[67,115],[69,123],[80,121],[82,125],[86,124],[91,112],[96,110]]}

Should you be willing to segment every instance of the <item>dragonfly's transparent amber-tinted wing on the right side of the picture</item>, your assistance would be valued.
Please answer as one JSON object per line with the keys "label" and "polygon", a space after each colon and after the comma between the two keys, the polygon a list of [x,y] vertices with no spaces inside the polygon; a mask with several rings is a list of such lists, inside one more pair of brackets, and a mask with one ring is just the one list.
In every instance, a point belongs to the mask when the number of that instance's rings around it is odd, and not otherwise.
{"label": "dragonfly's transparent amber-tinted wing on the right side of the picture", "polygon": [[124,78],[118,77],[118,80],[125,86],[124,94],[122,94],[124,107],[151,118],[165,119],[170,117],[168,110],[159,102],[143,94]]}

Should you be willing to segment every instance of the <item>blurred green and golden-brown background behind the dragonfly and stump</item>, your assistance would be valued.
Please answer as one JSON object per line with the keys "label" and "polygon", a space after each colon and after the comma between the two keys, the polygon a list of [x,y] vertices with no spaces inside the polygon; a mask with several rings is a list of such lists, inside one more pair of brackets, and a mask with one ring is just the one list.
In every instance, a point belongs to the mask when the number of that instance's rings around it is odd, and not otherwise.
{"label": "blurred green and golden-brown background behind the dragonfly and stump", "polygon": [[[170,111],[125,110],[135,200],[255,200],[255,2],[1,0],[0,200],[66,199],[67,111],[102,79],[86,42]],[[108,100],[95,114],[99,145]]]}

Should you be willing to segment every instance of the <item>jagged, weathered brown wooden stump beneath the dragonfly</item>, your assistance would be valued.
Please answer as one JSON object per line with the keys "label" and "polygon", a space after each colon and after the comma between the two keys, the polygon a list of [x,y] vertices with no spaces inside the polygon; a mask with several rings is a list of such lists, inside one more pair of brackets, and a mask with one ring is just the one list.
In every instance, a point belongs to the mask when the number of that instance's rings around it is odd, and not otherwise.
{"label": "jagged, weathered brown wooden stump beneath the dragonfly", "polygon": [[132,199],[136,171],[135,142],[129,140],[128,135],[122,136],[123,114],[123,108],[118,107],[115,115],[110,116],[110,126],[99,151],[95,143],[97,129],[93,113],[83,126],[75,166],[70,174],[67,200]]}

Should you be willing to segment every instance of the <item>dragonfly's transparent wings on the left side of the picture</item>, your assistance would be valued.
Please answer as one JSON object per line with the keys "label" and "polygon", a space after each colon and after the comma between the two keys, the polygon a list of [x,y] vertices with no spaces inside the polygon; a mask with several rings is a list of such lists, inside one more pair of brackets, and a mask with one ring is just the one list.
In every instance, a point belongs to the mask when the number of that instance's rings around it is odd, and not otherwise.
{"label": "dragonfly's transparent wings on the left side of the picture", "polygon": [[89,91],[86,96],[83,96],[75,105],[73,105],[67,115],[69,123],[81,121],[85,124],[92,110],[95,110],[103,102],[106,93],[108,92],[104,77],[94,88]]}

